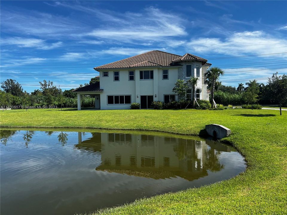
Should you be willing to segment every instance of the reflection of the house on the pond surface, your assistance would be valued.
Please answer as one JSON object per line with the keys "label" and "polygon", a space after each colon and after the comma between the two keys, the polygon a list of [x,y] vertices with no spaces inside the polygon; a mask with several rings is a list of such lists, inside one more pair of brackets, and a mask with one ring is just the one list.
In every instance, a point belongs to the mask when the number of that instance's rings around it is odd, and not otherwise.
{"label": "reflection of the house on the pond surface", "polygon": [[191,140],[169,136],[126,133],[92,133],[82,141],[80,150],[101,155],[97,171],[123,173],[153,179],[181,177],[188,181],[207,176],[207,170],[219,171],[222,151],[231,148],[211,140]]}

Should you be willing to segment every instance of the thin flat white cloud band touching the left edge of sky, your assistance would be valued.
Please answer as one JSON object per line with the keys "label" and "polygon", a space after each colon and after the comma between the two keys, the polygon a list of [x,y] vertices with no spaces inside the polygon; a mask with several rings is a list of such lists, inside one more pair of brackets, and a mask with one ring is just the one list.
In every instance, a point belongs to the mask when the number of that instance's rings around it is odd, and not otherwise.
{"label": "thin flat white cloud band touching the left edge of sky", "polygon": [[62,42],[55,42],[49,44],[42,39],[10,37],[1,39],[1,45],[16,45],[23,48],[49,50],[60,47],[62,45]]}

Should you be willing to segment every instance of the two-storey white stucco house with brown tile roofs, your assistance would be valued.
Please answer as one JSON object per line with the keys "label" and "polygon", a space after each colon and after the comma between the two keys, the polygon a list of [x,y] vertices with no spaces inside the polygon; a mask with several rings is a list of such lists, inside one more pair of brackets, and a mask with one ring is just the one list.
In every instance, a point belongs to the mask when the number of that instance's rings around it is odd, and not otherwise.
{"label": "two-storey white stucco house with brown tile roofs", "polygon": [[177,100],[172,92],[178,79],[198,76],[196,92],[187,90],[187,99],[209,98],[203,74],[211,64],[207,59],[186,53],[183,56],[153,50],[123,60],[95,67],[100,73],[100,82],[80,87],[77,93],[78,110],[81,110],[81,95],[95,96],[95,108],[101,110],[130,109],[133,102],[142,109],[152,108],[152,101]]}

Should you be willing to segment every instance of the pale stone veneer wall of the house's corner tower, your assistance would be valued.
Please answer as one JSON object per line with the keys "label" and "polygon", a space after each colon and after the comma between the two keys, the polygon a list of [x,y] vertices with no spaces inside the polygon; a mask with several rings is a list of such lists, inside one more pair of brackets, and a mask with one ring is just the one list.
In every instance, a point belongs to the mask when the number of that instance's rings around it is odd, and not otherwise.
{"label": "pale stone veneer wall of the house's corner tower", "polygon": [[[199,80],[197,82],[196,88],[200,89],[200,99],[206,99],[202,98],[202,63],[201,61],[181,61],[177,62],[178,64],[181,64],[182,66],[178,68],[178,79],[182,80],[188,80],[189,78],[185,77],[186,75],[186,65],[192,65],[192,68],[196,68],[196,65],[199,65],[200,67],[200,76]],[[193,70],[192,76],[196,76],[196,71]],[[196,97],[195,93],[194,96]]]}

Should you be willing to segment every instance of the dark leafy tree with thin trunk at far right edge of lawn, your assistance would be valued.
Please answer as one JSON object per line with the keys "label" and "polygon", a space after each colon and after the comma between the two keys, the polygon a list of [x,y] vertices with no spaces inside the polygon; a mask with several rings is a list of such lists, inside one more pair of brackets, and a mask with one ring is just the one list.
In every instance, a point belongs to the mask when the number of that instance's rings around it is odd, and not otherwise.
{"label": "dark leafy tree with thin trunk at far right edge of lawn", "polygon": [[283,104],[287,104],[287,76],[285,74],[278,76],[278,72],[273,73],[272,77],[268,79],[266,87],[274,100],[279,103],[280,115],[282,115],[281,107]]}

